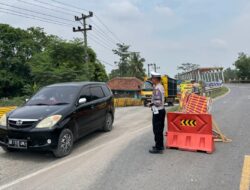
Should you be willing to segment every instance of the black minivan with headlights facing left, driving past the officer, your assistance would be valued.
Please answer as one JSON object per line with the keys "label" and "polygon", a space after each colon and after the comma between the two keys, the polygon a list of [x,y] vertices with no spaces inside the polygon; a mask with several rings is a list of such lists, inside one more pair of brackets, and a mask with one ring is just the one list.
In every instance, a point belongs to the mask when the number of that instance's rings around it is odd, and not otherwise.
{"label": "black minivan with headlights facing left, driving past the officer", "polygon": [[74,82],[46,86],[24,106],[0,119],[0,146],[71,153],[73,143],[96,130],[111,131],[114,99],[105,83]]}

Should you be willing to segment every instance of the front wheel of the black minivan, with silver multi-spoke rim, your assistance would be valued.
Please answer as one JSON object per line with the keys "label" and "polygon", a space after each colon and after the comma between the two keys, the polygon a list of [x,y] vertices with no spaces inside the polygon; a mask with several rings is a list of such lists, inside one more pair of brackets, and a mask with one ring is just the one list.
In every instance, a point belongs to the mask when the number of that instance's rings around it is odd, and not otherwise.
{"label": "front wheel of the black minivan, with silver multi-spoke rim", "polygon": [[71,153],[74,137],[70,129],[63,129],[57,144],[57,149],[53,151],[55,157],[61,158]]}

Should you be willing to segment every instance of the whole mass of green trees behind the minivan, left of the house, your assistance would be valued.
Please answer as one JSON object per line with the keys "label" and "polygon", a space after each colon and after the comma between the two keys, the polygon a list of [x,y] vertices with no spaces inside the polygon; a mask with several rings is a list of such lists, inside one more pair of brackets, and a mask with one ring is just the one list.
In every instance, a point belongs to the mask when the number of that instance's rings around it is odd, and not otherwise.
{"label": "whole mass of green trees behind the minivan, left of the house", "polygon": [[0,98],[30,95],[52,83],[108,80],[104,65],[81,40],[6,24],[0,24],[0,76]]}

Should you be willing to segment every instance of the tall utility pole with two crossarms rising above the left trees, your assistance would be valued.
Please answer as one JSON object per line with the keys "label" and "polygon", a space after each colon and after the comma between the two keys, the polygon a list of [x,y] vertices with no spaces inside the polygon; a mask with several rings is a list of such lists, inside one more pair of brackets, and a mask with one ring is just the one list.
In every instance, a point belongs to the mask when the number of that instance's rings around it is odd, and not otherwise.
{"label": "tall utility pole with two crossarms rising above the left trees", "polygon": [[[75,16],[75,21],[79,21],[81,24],[82,24],[82,28],[80,26],[77,27],[77,29],[75,27],[73,27],[73,32],[82,32],[83,33],[83,37],[84,37],[84,46],[85,46],[85,61],[87,62],[88,61],[88,55],[87,55],[87,48],[88,48],[88,41],[87,41],[87,31],[88,30],[92,30],[92,26],[91,25],[88,25],[87,27],[87,23],[86,23],[86,19],[87,18],[90,18],[90,17],[93,17],[93,12],[89,11],[89,14],[88,15],[85,15],[85,14],[82,14],[82,17],[78,17],[78,16]],[[83,21],[83,22],[81,22]]]}

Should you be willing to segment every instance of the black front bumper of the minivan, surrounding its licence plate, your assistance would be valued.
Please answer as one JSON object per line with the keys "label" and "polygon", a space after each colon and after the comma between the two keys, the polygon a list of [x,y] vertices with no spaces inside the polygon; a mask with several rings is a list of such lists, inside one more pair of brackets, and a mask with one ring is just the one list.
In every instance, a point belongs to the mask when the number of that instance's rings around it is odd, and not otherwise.
{"label": "black front bumper of the minivan, surrounding its licence plate", "polygon": [[[26,140],[28,150],[53,150],[57,147],[59,132],[9,130],[0,126],[0,146],[8,147],[9,139]],[[49,142],[51,141],[51,142]],[[11,147],[16,149],[24,149]]]}

